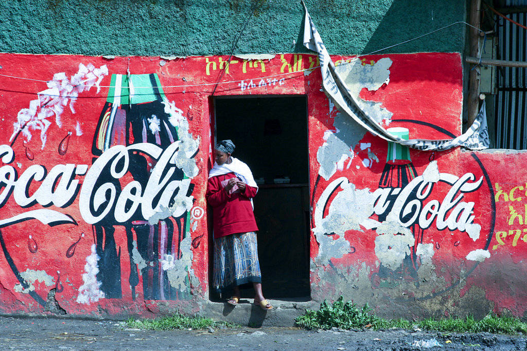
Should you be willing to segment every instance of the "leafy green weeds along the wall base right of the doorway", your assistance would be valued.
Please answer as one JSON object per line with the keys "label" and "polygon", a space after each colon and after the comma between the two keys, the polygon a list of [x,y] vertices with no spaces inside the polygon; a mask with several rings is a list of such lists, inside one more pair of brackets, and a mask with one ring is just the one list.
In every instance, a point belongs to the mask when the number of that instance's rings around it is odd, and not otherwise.
{"label": "leafy green weeds along the wall base right of the doorway", "polygon": [[527,334],[527,324],[517,318],[498,317],[489,314],[482,320],[474,317],[435,319],[426,318],[420,321],[409,321],[403,318],[384,319],[375,316],[368,304],[359,308],[352,301],[344,303],[340,296],[333,304],[326,300],[318,311],[306,310],[306,313],[296,318],[296,324],[306,329],[342,329],[384,328],[411,329],[417,326],[426,330],[447,331],[454,333],[480,333],[486,331],[492,334]]}

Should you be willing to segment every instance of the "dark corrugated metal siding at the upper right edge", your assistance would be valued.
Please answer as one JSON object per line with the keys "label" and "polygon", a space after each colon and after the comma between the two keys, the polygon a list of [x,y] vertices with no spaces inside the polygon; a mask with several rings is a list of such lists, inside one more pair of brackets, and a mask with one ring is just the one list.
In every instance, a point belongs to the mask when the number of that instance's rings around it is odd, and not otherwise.
{"label": "dark corrugated metal siding at the upper right edge", "polygon": [[[525,5],[527,0],[509,0],[508,5]],[[527,13],[506,15],[527,25]],[[527,61],[527,30],[496,16],[499,24],[498,52],[501,60]],[[527,69],[500,67],[497,70],[496,148],[527,149]]]}

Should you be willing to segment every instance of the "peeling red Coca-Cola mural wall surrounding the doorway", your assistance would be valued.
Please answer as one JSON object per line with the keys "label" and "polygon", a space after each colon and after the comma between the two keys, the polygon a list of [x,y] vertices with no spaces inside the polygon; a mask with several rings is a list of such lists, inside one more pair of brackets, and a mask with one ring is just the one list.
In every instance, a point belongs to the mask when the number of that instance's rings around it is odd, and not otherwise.
{"label": "peeling red Coca-Cola mural wall surrounding the doorway", "polygon": [[[521,153],[388,144],[341,118],[316,56],[262,57],[0,54],[2,313],[46,313],[53,297],[64,313],[96,316],[206,303],[215,89],[308,96],[315,301],[523,315],[527,184],[504,171],[521,169]],[[334,61],[385,128],[461,133],[460,55]]]}

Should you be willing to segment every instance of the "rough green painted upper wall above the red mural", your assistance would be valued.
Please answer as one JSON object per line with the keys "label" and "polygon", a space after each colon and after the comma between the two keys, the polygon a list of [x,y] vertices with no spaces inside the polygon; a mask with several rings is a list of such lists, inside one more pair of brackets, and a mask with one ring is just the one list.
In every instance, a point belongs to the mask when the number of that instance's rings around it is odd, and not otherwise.
{"label": "rough green painted upper wall above the red mural", "polygon": [[[465,0],[305,0],[331,54],[370,53],[457,21]],[[0,52],[83,55],[307,52],[297,0],[0,0]],[[461,52],[455,24],[383,53]]]}

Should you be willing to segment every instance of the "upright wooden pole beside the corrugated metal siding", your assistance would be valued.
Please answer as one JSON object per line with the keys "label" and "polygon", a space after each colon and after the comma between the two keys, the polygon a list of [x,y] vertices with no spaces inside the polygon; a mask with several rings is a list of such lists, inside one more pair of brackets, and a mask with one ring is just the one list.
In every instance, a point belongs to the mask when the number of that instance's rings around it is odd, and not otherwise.
{"label": "upright wooden pole beside the corrugated metal siding", "polygon": [[[475,28],[470,28],[470,55],[472,57],[479,56],[480,49],[480,8],[481,0],[471,0],[470,2],[470,24]],[[477,28],[477,29],[476,29]],[[470,128],[476,119],[477,111],[479,110],[480,94],[480,77],[476,70],[471,69],[469,74],[469,99],[467,103],[467,128]]]}

